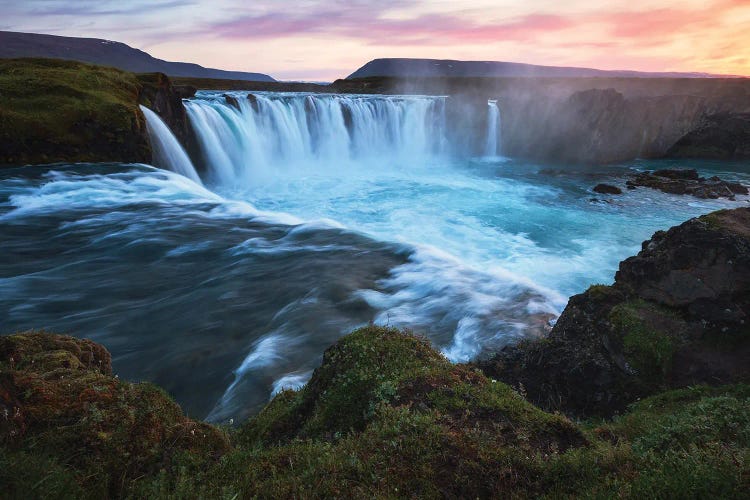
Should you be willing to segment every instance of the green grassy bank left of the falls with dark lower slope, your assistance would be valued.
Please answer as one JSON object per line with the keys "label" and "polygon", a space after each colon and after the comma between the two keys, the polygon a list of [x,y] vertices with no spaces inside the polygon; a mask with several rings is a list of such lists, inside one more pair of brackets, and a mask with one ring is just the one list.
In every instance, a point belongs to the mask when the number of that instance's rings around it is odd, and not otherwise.
{"label": "green grassy bank left of the falls with dark lower slope", "polygon": [[0,59],[0,165],[149,162],[141,88],[114,68]]}

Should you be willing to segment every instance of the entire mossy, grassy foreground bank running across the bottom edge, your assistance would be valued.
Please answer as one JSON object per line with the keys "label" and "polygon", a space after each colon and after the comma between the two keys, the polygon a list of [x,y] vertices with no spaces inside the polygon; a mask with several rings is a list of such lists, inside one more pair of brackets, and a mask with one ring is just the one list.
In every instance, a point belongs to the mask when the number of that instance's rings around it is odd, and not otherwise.
{"label": "entire mossy, grassy foreground bank running across the bottom edge", "polygon": [[[0,337],[6,498],[747,498],[750,387],[693,387],[579,425],[367,327],[309,384],[222,431],[70,337]],[[231,441],[231,444],[227,442]]]}

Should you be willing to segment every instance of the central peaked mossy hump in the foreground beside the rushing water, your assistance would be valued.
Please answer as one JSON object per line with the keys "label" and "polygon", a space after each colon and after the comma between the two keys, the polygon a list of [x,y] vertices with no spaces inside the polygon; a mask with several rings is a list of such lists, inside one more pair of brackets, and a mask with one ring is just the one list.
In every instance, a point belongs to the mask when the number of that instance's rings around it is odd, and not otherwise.
{"label": "central peaked mossy hump in the foreground beside the rushing water", "polygon": [[427,339],[370,326],[328,349],[323,364],[299,392],[285,391],[250,421],[252,441],[332,438],[360,432],[383,407],[435,412],[455,428],[507,429],[531,445],[568,448],[584,442],[567,419],[542,412],[502,383],[451,364]]}

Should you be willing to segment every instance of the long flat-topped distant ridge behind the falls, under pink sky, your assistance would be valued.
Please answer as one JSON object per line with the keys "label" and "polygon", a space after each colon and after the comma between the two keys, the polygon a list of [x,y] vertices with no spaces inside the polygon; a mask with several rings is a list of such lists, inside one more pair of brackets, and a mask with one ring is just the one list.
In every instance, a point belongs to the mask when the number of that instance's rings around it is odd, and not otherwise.
{"label": "long flat-topped distant ridge behind the falls, under pink sky", "polygon": [[708,73],[656,73],[609,71],[592,68],[538,66],[497,61],[454,61],[448,59],[373,59],[347,78],[368,77],[549,77],[549,78],[712,78]]}

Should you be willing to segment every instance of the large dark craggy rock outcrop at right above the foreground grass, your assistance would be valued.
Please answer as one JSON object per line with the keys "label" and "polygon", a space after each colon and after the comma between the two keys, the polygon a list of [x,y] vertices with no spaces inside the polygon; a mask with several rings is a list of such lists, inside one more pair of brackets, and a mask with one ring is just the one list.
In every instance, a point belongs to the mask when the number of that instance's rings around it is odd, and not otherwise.
{"label": "large dark craggy rock outcrop at right above the foreground grass", "polygon": [[611,415],[663,389],[750,380],[750,209],[657,232],[550,335],[479,366],[547,409]]}

